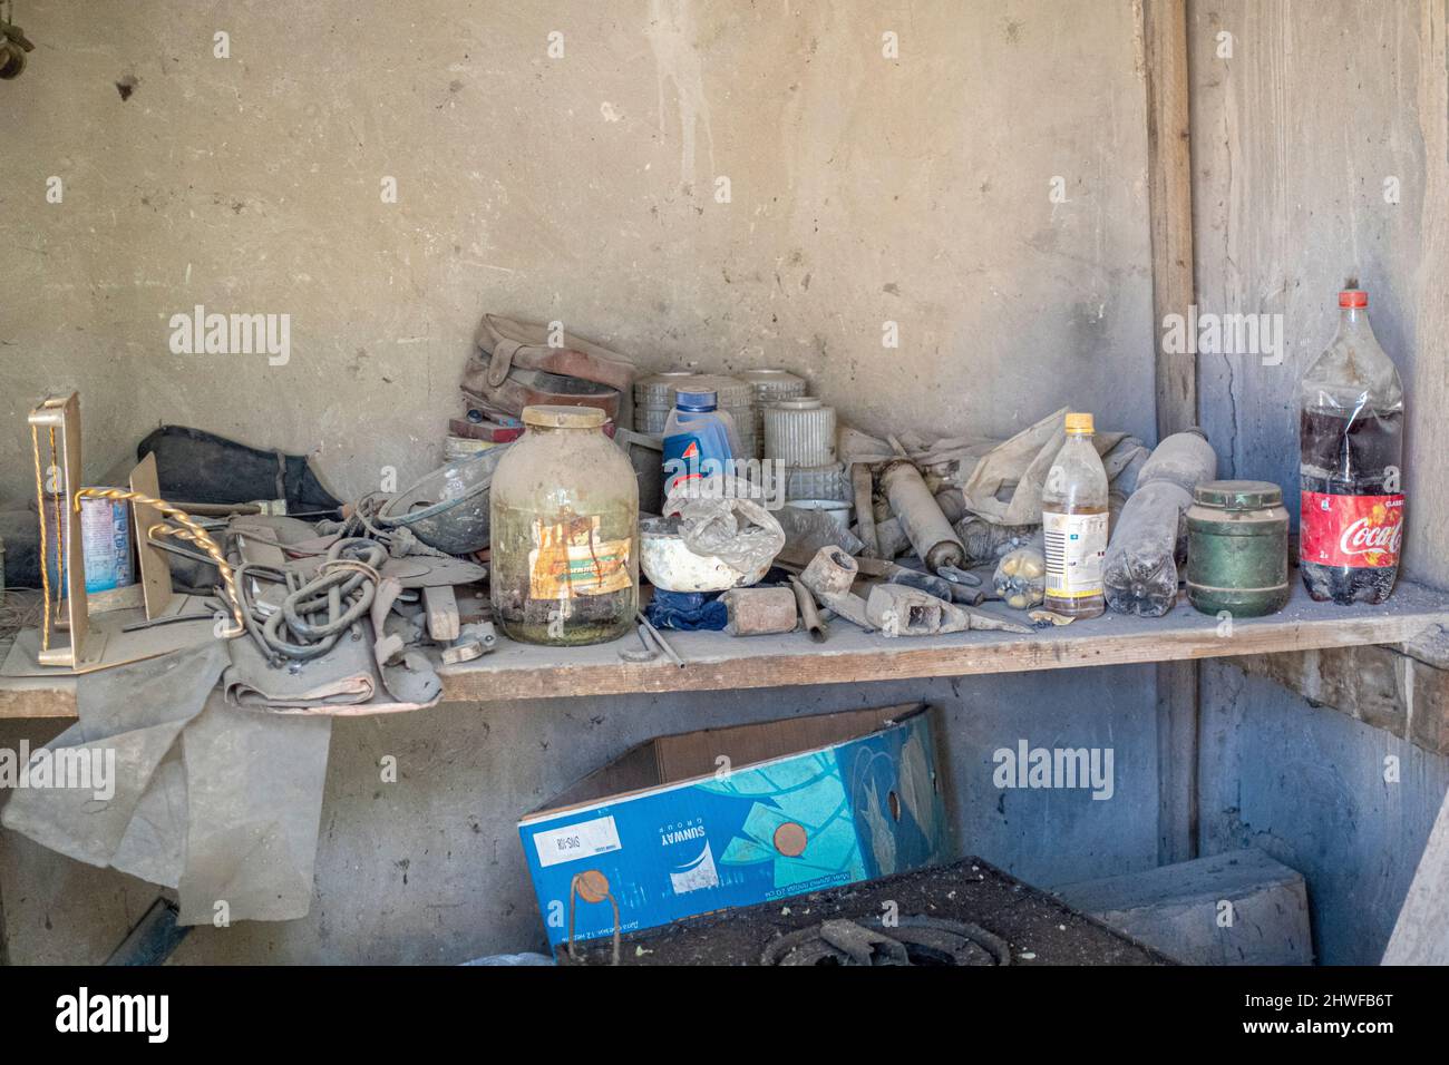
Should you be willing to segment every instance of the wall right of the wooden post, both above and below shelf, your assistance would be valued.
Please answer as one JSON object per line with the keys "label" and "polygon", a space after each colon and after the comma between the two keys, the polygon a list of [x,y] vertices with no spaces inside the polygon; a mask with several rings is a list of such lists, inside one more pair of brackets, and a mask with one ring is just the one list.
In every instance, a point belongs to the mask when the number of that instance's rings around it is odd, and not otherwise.
{"label": "wall right of the wooden post, both above and below shelf", "polygon": [[[1358,275],[1407,393],[1407,574],[1437,587],[1449,585],[1446,10],[1190,4],[1198,304],[1281,314],[1287,339],[1277,365],[1200,356],[1220,472],[1282,484],[1297,511],[1297,383],[1333,335],[1337,288]],[[1320,958],[1378,962],[1449,759],[1229,665],[1206,665],[1201,693],[1203,852],[1265,846],[1308,880]]]}

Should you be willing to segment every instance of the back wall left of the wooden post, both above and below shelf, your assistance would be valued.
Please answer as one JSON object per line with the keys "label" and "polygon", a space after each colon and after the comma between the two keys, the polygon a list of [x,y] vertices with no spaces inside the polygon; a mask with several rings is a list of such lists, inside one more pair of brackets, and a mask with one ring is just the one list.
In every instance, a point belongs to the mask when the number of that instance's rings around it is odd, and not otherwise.
{"label": "back wall left of the wooden post, both above and below shelf", "polygon": [[[1072,404],[1151,436],[1132,0],[20,7],[39,48],[0,85],[10,500],[32,491],[26,410],[70,388],[90,480],[161,422],[310,452],[346,496],[383,467],[406,480],[438,458],[484,310],[562,320],[649,368],[782,365],[878,432],[1004,436]],[[199,303],[290,314],[290,362],[174,355],[170,317]],[[898,348],[882,348],[885,322]],[[180,958],[538,945],[520,811],[652,735],[906,698],[949,710],[964,851],[1042,884],[1146,868],[1151,678],[338,722],[312,916],[203,929]],[[9,723],[0,742],[52,732]],[[1113,746],[1114,798],[997,791],[990,752],[1019,739]],[[381,753],[403,765],[391,788]],[[0,833],[0,894],[13,961],[96,961],[155,890]]]}

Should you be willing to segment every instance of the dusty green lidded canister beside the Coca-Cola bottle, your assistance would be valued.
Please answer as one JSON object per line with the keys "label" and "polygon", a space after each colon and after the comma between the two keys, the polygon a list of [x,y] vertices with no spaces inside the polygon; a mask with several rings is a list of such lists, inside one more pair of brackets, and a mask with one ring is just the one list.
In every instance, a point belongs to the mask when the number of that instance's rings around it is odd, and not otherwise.
{"label": "dusty green lidded canister beside the Coca-Cola bottle", "polygon": [[1288,603],[1288,510],[1269,481],[1208,481],[1187,511],[1187,596],[1204,614],[1261,617]]}

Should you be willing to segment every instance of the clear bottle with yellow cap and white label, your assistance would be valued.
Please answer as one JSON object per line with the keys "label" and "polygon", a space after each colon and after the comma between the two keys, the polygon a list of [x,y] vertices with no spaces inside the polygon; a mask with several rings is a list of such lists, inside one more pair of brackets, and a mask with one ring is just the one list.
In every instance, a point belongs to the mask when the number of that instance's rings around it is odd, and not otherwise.
{"label": "clear bottle with yellow cap and white label", "polygon": [[1091,438],[1091,414],[1066,416],[1066,443],[1056,452],[1042,488],[1043,606],[1068,617],[1097,617],[1107,609],[1101,582],[1107,555],[1107,471]]}

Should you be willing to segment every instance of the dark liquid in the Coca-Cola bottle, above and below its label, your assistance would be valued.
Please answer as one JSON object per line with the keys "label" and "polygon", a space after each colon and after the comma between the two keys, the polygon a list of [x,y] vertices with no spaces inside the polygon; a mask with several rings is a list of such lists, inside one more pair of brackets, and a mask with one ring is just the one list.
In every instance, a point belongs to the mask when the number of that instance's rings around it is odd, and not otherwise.
{"label": "dark liquid in the Coca-Cola bottle, above and below its label", "polygon": [[[1404,412],[1306,407],[1300,416],[1298,487],[1329,496],[1392,496],[1390,468],[1400,469]],[[1390,491],[1390,487],[1392,491]],[[1303,585],[1319,600],[1382,603],[1394,588],[1398,567],[1349,567],[1301,562]]]}

